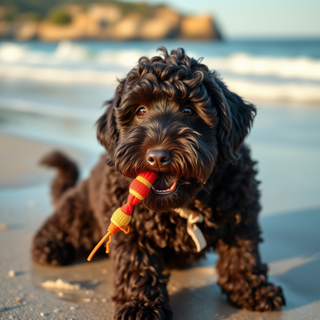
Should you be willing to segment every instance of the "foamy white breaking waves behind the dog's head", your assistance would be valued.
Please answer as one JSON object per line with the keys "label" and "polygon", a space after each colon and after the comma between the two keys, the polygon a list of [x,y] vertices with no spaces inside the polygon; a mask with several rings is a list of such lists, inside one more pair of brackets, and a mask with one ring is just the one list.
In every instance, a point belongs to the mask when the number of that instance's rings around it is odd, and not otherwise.
{"label": "foamy white breaking waves behind the dog's head", "polygon": [[[129,46],[128,46],[129,47]],[[150,48],[151,48],[150,44]],[[199,49],[201,51],[201,49]],[[199,58],[201,52],[188,52]],[[0,77],[69,84],[116,85],[116,78],[155,50],[92,49],[90,44],[62,41],[51,50],[28,44],[0,45]],[[230,88],[246,100],[320,101],[320,60],[310,57],[261,57],[248,53],[204,57]]]}

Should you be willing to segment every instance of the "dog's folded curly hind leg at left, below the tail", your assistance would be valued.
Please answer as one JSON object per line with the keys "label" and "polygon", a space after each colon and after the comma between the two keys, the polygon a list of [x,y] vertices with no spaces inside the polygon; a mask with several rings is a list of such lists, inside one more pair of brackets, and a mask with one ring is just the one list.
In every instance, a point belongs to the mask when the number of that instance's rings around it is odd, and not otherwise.
{"label": "dog's folded curly hind leg at left, below the tail", "polygon": [[88,181],[68,190],[55,212],[37,232],[32,258],[41,264],[64,265],[75,249],[91,250],[100,238],[100,228],[88,204]]}

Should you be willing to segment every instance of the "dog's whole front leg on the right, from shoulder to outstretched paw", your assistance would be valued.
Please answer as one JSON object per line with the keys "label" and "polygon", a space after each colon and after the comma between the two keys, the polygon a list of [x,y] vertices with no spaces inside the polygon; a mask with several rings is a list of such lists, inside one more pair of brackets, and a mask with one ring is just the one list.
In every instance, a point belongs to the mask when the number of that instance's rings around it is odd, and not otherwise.
{"label": "dog's whole front leg on the right, from shoulder to outstretched paw", "polygon": [[285,304],[282,289],[268,282],[267,266],[261,263],[258,251],[260,205],[253,166],[248,150],[243,152],[230,171],[226,171],[224,188],[216,188],[220,199],[216,204],[217,216],[223,217],[214,245],[220,255],[218,283],[229,300],[240,308],[279,310]]}

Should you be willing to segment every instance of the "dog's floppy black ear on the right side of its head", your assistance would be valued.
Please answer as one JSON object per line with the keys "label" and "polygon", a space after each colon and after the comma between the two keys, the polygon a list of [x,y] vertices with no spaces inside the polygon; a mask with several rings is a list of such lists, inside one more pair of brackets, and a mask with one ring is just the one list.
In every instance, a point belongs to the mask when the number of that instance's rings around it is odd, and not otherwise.
{"label": "dog's floppy black ear on the right side of its head", "polygon": [[229,91],[215,73],[210,74],[210,78],[204,80],[204,85],[219,116],[219,156],[226,162],[233,162],[238,158],[237,151],[251,128],[256,108]]}

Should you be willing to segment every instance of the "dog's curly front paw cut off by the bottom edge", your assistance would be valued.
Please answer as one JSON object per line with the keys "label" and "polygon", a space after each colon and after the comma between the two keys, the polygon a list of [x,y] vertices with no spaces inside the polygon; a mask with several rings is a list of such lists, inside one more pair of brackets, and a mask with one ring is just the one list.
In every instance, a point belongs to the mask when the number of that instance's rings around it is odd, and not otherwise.
{"label": "dog's curly front paw cut off by the bottom edge", "polygon": [[132,300],[120,305],[115,314],[115,320],[171,320],[172,311],[154,301]]}

